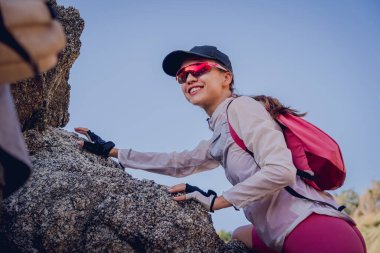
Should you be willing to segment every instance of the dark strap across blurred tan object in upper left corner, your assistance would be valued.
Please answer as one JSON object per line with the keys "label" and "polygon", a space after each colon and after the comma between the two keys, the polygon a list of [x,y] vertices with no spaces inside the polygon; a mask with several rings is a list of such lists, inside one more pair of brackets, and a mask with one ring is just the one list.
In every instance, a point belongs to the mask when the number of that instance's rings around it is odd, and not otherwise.
{"label": "dark strap across blurred tan object in upper left corner", "polygon": [[13,37],[13,35],[8,31],[8,29],[4,25],[3,16],[0,13],[0,41],[14,49],[24,61],[26,61],[30,67],[32,68],[34,75],[38,76],[39,69],[38,65],[35,61],[33,61],[32,57],[30,57],[29,53],[18,43],[18,41]]}

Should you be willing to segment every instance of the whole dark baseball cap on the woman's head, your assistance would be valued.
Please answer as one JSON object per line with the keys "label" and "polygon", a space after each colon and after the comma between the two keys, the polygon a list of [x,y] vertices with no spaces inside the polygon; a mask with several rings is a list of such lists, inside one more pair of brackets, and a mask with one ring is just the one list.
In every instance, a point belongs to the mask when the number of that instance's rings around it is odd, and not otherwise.
{"label": "whole dark baseball cap on the woman's head", "polygon": [[215,60],[232,72],[231,61],[228,56],[214,46],[195,46],[190,51],[173,51],[165,57],[162,68],[166,74],[175,77],[185,60],[199,57]]}

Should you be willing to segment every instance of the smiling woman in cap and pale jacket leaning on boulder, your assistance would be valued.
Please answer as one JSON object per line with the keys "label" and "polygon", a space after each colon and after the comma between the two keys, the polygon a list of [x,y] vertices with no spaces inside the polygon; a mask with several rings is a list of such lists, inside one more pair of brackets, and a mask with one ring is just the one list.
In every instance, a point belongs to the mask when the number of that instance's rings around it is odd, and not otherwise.
{"label": "smiling woman in cap and pale jacket leaning on boulder", "polygon": [[[87,128],[76,128],[94,143],[79,142],[99,155],[118,158],[129,168],[184,177],[222,165],[233,187],[221,196],[186,184],[170,192],[186,192],[177,201],[195,198],[210,211],[243,208],[251,225],[239,227],[233,238],[259,252],[365,252],[364,240],[346,214],[318,203],[295,198],[291,186],[311,199],[336,204],[296,176],[281,127],[265,107],[250,97],[233,94],[233,70],[227,55],[213,46],[174,51],[163,61],[164,71],[175,76],[186,99],[208,114],[213,136],[192,151],[142,153],[116,149]],[[277,104],[277,106],[282,106]],[[294,111],[293,111],[294,112]],[[232,139],[228,121],[254,157]]]}

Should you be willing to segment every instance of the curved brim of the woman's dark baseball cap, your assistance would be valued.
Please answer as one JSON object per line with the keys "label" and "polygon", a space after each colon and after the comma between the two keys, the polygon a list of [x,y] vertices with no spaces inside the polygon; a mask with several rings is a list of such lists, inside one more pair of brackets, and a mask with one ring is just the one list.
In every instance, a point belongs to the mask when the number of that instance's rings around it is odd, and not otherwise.
{"label": "curved brim of the woman's dark baseball cap", "polygon": [[170,54],[168,54],[164,61],[162,62],[162,68],[164,69],[164,72],[168,74],[169,76],[174,76],[177,74],[177,71],[181,67],[182,63],[191,58],[206,58],[206,59],[213,59],[210,56],[203,55],[203,54],[197,54],[197,53],[192,53],[189,51],[182,51],[182,50],[177,50],[173,51]]}

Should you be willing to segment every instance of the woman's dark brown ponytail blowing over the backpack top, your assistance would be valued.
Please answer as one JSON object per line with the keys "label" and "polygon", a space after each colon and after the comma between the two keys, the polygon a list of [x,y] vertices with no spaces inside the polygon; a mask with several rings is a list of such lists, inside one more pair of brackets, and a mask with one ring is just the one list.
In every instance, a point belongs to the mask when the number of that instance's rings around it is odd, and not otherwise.
{"label": "woman's dark brown ponytail blowing over the backpack top", "polygon": [[[234,94],[235,97],[240,97],[241,95]],[[284,106],[277,98],[258,95],[258,96],[250,96],[258,102],[261,102],[265,109],[270,113],[273,119],[277,119],[280,114],[292,114],[297,117],[304,117],[307,112],[300,113],[297,110],[290,108],[289,106]]]}

